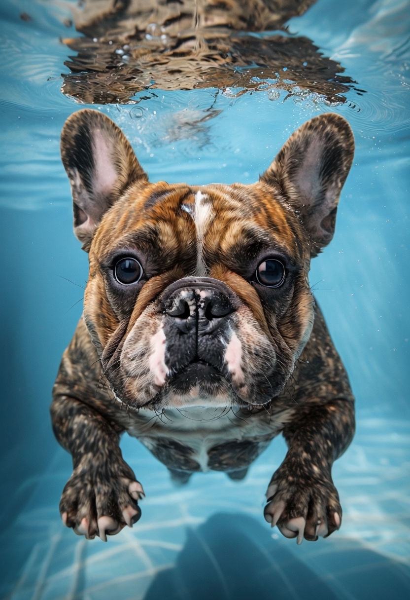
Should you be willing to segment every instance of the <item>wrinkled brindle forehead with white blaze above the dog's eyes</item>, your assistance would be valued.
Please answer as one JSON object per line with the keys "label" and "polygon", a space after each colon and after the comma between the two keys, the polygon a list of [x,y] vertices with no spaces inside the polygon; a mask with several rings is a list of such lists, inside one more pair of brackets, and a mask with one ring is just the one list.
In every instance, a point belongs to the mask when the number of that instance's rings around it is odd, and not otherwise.
{"label": "wrinkled brindle forehead with white blaze above the dog's eyes", "polygon": [[[109,230],[109,235],[104,233]],[[94,245],[191,245],[206,254],[252,248],[284,251],[300,259],[297,218],[263,185],[145,184],[127,191],[105,215]]]}

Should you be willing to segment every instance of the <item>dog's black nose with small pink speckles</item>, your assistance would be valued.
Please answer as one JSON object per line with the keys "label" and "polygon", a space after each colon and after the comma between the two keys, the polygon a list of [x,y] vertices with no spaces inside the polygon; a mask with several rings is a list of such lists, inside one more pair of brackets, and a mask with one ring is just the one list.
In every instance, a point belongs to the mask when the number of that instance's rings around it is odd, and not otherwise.
{"label": "dog's black nose with small pink speckles", "polygon": [[162,299],[164,312],[186,333],[194,328],[200,332],[213,331],[236,310],[234,293],[218,280],[186,278],[170,286],[167,292]]}

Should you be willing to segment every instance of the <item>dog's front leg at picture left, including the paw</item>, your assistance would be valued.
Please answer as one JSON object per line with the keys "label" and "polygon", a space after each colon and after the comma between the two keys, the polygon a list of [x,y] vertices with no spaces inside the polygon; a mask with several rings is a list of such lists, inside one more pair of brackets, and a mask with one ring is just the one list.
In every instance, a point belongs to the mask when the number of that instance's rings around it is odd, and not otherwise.
{"label": "dog's front leg at picture left, including the paw", "polygon": [[60,502],[64,524],[78,535],[118,533],[132,527],[141,516],[137,501],[143,487],[125,463],[119,433],[96,410],[65,395],[56,395],[52,406],[53,430],[73,457],[73,475]]}

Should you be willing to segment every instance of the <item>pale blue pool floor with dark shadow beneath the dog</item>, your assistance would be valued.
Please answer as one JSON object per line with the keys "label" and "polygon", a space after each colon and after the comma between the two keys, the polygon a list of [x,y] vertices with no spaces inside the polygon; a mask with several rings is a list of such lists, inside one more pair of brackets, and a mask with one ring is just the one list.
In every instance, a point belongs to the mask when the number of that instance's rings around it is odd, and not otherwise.
{"label": "pale blue pool floor with dark shadow beneath the dog", "polygon": [[301,546],[271,530],[262,515],[261,490],[282,456],[281,443],[240,483],[208,473],[175,488],[149,451],[133,455],[134,440],[123,440],[147,500],[137,525],[107,544],[62,525],[58,502],[70,466],[62,448],[50,447],[47,470],[20,485],[15,470],[16,489],[4,494],[0,598],[408,600],[409,425],[358,421],[355,442],[334,473],[342,529]]}

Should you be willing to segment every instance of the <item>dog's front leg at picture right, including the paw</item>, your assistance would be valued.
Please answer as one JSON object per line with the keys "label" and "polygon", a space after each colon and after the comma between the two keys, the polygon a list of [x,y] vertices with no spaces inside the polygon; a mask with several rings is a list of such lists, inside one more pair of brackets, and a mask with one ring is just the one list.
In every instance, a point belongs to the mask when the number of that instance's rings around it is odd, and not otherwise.
{"label": "dog's front leg at picture right, including the paw", "polygon": [[353,403],[306,406],[284,429],[289,450],[267,489],[266,520],[287,538],[315,541],[339,529],[342,508],[331,466],[351,442]]}

